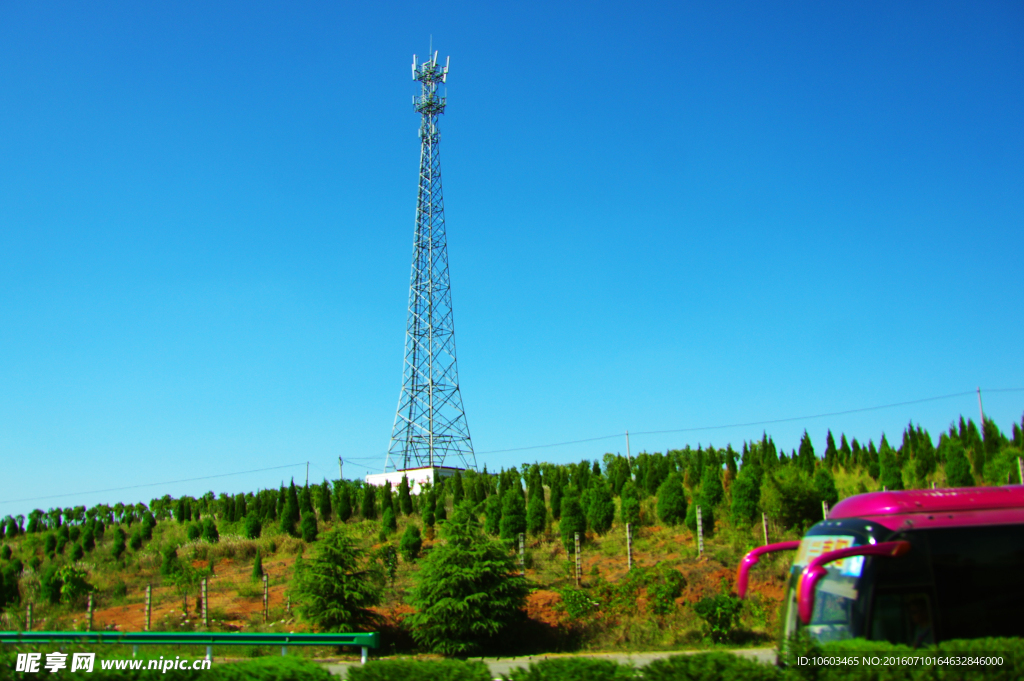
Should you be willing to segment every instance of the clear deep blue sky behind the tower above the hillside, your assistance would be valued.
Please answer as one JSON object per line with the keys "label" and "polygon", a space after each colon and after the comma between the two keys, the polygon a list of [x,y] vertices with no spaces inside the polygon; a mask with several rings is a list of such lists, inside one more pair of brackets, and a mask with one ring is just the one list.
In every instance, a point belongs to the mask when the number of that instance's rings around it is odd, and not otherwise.
{"label": "clear deep blue sky behind the tower above the hillside", "polygon": [[431,36],[477,452],[1020,421],[1020,3],[4,3],[0,514],[383,464]]}

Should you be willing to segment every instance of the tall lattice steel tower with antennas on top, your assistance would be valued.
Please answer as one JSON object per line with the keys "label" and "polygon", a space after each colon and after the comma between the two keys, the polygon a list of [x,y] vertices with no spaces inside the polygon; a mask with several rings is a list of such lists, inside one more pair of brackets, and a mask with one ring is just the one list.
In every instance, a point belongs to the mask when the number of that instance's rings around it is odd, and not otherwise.
{"label": "tall lattice steel tower with antennas on top", "polygon": [[447,80],[447,61],[439,66],[437,52],[419,66],[413,55],[413,80],[422,85],[422,93],[413,97],[413,105],[422,116],[420,188],[409,285],[406,364],[385,470],[442,466],[452,456],[459,467],[476,468],[459,391],[441,197],[437,117],[444,113],[446,97],[437,93],[437,86]]}

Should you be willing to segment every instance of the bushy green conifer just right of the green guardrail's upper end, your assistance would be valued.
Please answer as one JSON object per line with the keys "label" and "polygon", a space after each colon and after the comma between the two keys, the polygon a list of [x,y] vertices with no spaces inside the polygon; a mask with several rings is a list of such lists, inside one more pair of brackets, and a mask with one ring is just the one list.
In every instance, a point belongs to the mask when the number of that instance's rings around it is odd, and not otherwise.
{"label": "bushy green conifer just right of the green guardrail's upper end", "polygon": [[342,529],[324,535],[316,553],[296,569],[293,593],[299,612],[321,631],[345,631],[377,624],[370,608],[380,602],[379,572],[361,564],[355,542]]}

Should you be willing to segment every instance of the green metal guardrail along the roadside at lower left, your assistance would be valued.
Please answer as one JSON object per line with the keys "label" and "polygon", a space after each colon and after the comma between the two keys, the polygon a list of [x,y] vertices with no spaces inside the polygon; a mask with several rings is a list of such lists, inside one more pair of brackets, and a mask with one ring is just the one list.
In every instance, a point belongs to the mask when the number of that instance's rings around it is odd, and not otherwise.
{"label": "green metal guardrail along the roadside at lower left", "polygon": [[281,654],[290,645],[352,645],[361,648],[362,663],[369,648],[380,646],[380,634],[266,634],[213,632],[0,632],[0,643],[79,643],[83,645],[205,645],[206,656],[214,645],[280,645]]}

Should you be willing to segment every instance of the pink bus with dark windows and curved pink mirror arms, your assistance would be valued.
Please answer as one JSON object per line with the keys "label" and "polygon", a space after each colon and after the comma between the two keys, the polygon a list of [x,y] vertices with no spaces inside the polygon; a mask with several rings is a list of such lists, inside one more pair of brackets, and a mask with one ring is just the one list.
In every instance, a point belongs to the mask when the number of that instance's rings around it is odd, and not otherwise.
{"label": "pink bus with dark windows and curved pink mirror arms", "polygon": [[874,492],[846,499],[800,542],[755,549],[739,565],[746,594],[760,556],[796,551],[783,636],[921,646],[1024,636],[1024,486]]}

